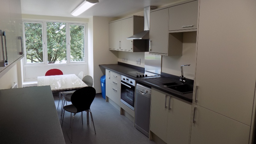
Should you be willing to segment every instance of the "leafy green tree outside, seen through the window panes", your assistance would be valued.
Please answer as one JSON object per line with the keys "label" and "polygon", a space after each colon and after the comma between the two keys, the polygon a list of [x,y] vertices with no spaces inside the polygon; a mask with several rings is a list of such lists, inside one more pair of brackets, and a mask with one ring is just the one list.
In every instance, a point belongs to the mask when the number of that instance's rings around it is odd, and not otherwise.
{"label": "leafy green tree outside, seen through the window panes", "polygon": [[[66,23],[47,22],[47,61],[67,61]],[[25,23],[27,60],[43,62],[42,24]],[[84,26],[70,25],[70,60],[84,61]]]}

